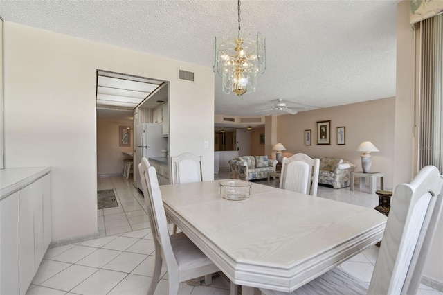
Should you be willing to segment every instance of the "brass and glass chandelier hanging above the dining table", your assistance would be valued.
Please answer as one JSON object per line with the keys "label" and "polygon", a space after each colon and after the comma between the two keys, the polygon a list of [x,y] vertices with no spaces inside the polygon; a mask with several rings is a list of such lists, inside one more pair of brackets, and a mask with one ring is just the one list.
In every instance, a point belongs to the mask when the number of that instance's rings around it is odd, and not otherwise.
{"label": "brass and glass chandelier hanging above the dining table", "polygon": [[240,27],[240,0],[237,2],[238,30],[215,37],[213,70],[223,77],[223,92],[237,96],[255,92],[257,74],[266,71],[266,39],[260,33]]}

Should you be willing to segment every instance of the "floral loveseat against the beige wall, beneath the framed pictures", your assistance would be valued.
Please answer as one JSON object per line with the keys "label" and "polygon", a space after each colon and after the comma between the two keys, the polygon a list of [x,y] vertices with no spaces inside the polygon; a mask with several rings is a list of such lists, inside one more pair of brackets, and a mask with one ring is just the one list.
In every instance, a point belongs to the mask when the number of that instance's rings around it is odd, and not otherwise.
{"label": "floral loveseat against the beige wall, beneath the framed pictures", "polygon": [[333,188],[345,188],[351,185],[351,172],[354,164],[334,157],[312,157],[320,159],[319,184],[328,184]]}

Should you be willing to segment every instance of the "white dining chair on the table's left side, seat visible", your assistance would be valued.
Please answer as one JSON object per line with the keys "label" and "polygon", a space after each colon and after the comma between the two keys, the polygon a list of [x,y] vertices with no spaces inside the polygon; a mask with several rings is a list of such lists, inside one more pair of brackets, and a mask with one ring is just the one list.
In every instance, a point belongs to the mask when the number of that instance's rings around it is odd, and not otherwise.
{"label": "white dining chair on the table's left side, seat visible", "polygon": [[168,268],[169,294],[177,294],[180,282],[200,276],[205,276],[208,285],[212,274],[219,271],[218,267],[184,233],[169,235],[156,170],[145,157],[138,164],[138,170],[155,247],[154,275],[147,294],[154,294],[163,261]]}

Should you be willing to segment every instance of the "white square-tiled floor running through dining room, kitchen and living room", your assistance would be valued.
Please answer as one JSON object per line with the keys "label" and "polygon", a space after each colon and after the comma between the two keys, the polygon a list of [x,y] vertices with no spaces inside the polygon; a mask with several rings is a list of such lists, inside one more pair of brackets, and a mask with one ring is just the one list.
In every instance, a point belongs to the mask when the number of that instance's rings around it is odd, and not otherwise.
{"label": "white square-tiled floor running through dining room, kitchen and living room", "polygon": [[[229,178],[228,173],[215,175]],[[267,184],[267,181],[256,181]],[[271,186],[278,186],[278,180]],[[154,268],[154,242],[141,193],[123,177],[98,179],[98,190],[114,188],[119,206],[98,211],[100,238],[48,249],[27,295],[57,294],[146,294]],[[374,207],[377,195],[349,188],[318,187],[318,196],[361,206]],[[339,267],[369,282],[378,253],[369,247]],[[163,265],[155,294],[168,294],[168,273]],[[229,283],[221,276],[210,286],[181,283],[179,294],[230,294]],[[443,295],[425,285],[418,294]]]}

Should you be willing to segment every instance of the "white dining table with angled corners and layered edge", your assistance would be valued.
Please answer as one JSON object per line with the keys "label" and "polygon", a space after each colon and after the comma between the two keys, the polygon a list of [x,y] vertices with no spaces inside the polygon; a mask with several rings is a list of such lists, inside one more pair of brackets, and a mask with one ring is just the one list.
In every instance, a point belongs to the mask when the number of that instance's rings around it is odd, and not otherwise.
{"label": "white dining table with angled corners and layered edge", "polygon": [[220,181],[160,186],[163,204],[243,295],[291,292],[382,238],[386,216],[372,208],[261,184],[231,201]]}

